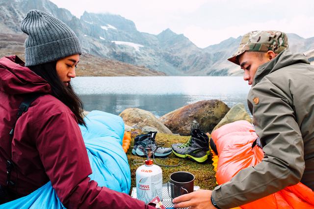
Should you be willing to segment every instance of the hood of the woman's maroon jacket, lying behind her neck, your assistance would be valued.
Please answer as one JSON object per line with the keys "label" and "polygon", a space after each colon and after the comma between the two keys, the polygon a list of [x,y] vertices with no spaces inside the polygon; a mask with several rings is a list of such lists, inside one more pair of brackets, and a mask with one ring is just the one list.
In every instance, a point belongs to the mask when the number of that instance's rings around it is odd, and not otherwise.
{"label": "hood of the woman's maroon jacket, lying behind her neck", "polygon": [[14,55],[0,59],[0,91],[11,95],[51,93],[51,86]]}

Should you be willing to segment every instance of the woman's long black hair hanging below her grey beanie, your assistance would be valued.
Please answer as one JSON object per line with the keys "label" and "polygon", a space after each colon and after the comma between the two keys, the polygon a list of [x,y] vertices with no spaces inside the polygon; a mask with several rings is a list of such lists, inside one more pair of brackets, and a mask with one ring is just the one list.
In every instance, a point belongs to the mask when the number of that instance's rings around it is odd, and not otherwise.
{"label": "woman's long black hair hanging below her grey beanie", "polygon": [[52,61],[36,66],[29,66],[28,68],[45,79],[51,86],[52,95],[70,108],[77,117],[78,124],[86,126],[83,120],[83,103],[74,92],[71,82],[66,87],[60,80],[56,72],[56,63],[57,61]]}

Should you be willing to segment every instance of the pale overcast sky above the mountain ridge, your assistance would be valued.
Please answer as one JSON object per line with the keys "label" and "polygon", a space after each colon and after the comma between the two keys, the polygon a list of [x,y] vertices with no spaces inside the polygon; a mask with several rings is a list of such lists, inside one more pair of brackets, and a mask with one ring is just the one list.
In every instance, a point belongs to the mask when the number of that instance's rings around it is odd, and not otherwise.
{"label": "pale overcast sky above the mountain ridge", "polygon": [[251,30],[282,30],[314,37],[314,0],[51,0],[78,18],[84,11],[111,13],[137,30],[170,28],[201,48]]}

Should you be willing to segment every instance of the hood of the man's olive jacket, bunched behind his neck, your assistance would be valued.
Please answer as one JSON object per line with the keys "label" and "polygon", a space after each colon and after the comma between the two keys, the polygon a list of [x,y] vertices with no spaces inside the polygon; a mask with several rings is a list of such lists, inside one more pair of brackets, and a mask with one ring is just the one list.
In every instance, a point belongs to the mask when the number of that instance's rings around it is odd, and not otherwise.
{"label": "hood of the man's olive jacket, bunched behind his neck", "polygon": [[304,54],[292,53],[289,49],[282,51],[274,59],[264,63],[258,68],[252,87],[259,83],[265,75],[268,75],[278,69],[299,63],[310,65],[309,60]]}

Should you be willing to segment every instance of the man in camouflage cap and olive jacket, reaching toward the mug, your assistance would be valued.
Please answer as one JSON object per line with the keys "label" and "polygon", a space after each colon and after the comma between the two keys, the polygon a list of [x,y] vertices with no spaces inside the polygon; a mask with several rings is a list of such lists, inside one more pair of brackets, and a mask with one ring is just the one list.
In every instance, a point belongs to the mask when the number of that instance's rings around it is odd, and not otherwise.
{"label": "man in camouflage cap and olive jacket, reaching toward the mug", "polygon": [[212,191],[175,198],[176,208],[234,208],[298,182],[314,190],[314,67],[288,49],[280,31],[245,34],[228,60],[252,85],[248,107],[264,158]]}

